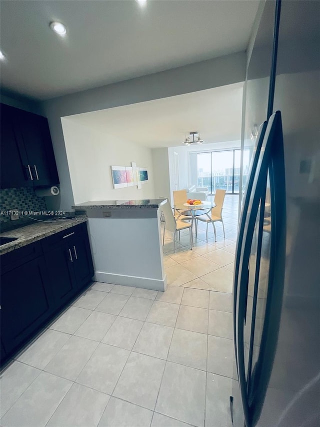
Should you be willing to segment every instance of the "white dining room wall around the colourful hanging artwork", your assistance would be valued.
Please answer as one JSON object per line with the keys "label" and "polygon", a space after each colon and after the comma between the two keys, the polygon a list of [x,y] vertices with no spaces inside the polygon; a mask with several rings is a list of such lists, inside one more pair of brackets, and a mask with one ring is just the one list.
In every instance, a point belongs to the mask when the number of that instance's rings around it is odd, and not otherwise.
{"label": "white dining room wall around the colourful hanging artwork", "polygon": [[[74,203],[154,198],[151,149],[120,141],[72,118],[62,118],[61,124]],[[131,166],[131,162],[147,168],[148,181],[141,189],[114,189],[110,166]]]}

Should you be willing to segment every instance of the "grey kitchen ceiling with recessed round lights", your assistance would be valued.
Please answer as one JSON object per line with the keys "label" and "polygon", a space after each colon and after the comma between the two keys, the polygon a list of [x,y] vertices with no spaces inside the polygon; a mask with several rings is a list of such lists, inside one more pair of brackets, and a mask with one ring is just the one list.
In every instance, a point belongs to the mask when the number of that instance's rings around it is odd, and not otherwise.
{"label": "grey kitchen ceiling with recessed round lights", "polygon": [[258,3],[1,0],[1,88],[45,100],[243,51]]}

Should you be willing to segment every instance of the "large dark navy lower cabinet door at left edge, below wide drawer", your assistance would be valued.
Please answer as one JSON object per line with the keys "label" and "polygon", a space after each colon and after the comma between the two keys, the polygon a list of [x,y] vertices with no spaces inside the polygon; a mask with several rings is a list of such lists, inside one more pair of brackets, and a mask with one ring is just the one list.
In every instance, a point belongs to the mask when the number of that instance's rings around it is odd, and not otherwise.
{"label": "large dark navy lower cabinet door at left edge, below wide drawer", "polygon": [[1,339],[10,353],[50,316],[52,303],[43,257],[1,275]]}

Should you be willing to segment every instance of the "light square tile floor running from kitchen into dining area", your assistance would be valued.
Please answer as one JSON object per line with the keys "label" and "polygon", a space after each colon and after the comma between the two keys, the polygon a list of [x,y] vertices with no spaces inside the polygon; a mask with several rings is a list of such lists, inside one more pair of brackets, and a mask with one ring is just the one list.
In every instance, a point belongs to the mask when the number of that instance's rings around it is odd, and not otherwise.
{"label": "light square tile floor running from kitchen into dining area", "polygon": [[1,373],[1,427],[230,427],[236,218],[165,237],[165,292],[90,286]]}

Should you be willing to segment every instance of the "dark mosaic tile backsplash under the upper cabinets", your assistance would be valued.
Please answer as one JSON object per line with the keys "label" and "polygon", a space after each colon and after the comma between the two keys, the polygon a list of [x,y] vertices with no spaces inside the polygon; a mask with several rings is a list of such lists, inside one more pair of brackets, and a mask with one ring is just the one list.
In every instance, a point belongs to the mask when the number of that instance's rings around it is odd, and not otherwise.
{"label": "dark mosaic tile backsplash under the upper cabinets", "polygon": [[[1,189],[1,212],[15,208],[18,211],[46,211],[45,198],[36,196],[32,188]],[[8,221],[10,221],[10,217],[8,215],[0,215],[1,224]]]}

